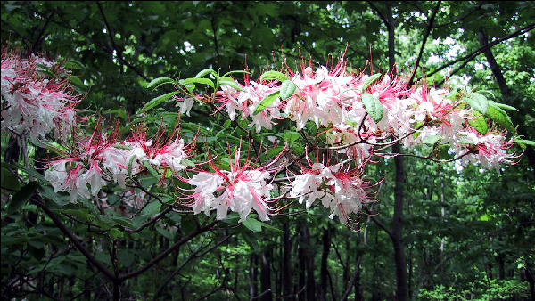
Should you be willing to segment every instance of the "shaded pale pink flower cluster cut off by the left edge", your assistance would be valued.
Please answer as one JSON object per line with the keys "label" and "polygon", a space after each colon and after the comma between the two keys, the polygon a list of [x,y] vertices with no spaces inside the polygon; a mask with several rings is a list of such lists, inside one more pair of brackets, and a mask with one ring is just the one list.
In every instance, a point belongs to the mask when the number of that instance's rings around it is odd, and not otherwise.
{"label": "shaded pale pink flower cluster cut off by the left edge", "polygon": [[[53,75],[50,75],[53,73]],[[2,52],[2,129],[32,140],[53,130],[64,139],[76,126],[79,95],[60,75],[67,71],[55,61],[29,59]]]}

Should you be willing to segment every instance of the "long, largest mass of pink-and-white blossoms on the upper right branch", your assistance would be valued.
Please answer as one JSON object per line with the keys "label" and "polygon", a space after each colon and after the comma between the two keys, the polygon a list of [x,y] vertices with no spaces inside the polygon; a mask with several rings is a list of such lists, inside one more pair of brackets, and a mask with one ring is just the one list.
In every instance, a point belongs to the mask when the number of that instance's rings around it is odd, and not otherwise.
{"label": "long, largest mass of pink-and-white blossoms on the upper right branch", "polygon": [[[326,129],[328,144],[343,146],[337,148],[339,152],[359,163],[374,154],[374,145],[402,142],[410,148],[435,137],[435,142],[449,144],[458,157],[474,155],[487,162],[483,167],[496,167],[514,158],[504,151],[510,145],[505,139],[488,139],[484,149],[473,147],[478,143],[468,139],[475,130],[470,122],[481,114],[447,89],[408,87],[401,77],[350,73],[343,58],[331,69],[321,66],[314,71],[312,66],[301,66],[300,72],[287,69],[287,74],[296,86],[295,92],[285,100],[277,97],[257,115],[253,112],[259,103],[281,89],[278,79],[256,83],[246,78],[241,89],[222,85],[218,93],[218,102],[223,103],[220,109],[225,107],[231,119],[236,111],[241,111],[242,118],[251,117],[250,126],[257,132],[262,127],[270,129],[276,118],[291,119],[296,130],[312,121]],[[365,98],[372,102],[368,106],[379,108],[367,108]],[[369,110],[380,111],[380,118],[374,119]],[[501,155],[486,151],[489,149],[499,150]]]}

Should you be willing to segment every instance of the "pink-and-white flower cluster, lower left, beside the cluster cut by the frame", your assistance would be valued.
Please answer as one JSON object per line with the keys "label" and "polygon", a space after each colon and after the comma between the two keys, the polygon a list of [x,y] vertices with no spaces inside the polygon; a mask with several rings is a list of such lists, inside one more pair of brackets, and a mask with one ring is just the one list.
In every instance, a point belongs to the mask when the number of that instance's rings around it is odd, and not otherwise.
{"label": "pink-and-white flower cluster, lower left, beside the cluster cut by the frame", "polygon": [[107,181],[126,189],[128,176],[140,173],[147,164],[154,170],[164,168],[162,176],[167,168],[177,173],[185,169],[184,160],[190,156],[194,141],[186,145],[175,133],[172,137],[166,141],[159,133],[147,139],[146,129],[140,126],[131,138],[117,141],[115,133],[107,137],[95,130],[92,136],[78,139],[78,148],[70,154],[49,162],[45,179],[52,183],[54,192],[70,191],[74,201],[78,195],[85,199],[96,196]]}

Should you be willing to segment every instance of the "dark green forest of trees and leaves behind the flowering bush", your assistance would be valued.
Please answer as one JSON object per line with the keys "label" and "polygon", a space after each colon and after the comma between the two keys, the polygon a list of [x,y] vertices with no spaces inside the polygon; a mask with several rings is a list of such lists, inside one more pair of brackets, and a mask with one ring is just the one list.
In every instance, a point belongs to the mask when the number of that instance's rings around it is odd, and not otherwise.
{"label": "dark green forest of trees and leaves behind the flowering bush", "polygon": [[[246,64],[254,78],[283,58],[292,65],[301,58],[325,64],[345,52],[354,69],[387,72],[395,65],[399,73],[415,70],[415,80],[428,85],[490,91],[494,101],[517,109],[510,112],[517,133],[535,139],[533,2],[1,5],[2,45],[77,61],[71,83],[86,95],[80,107],[124,125],[135,123],[136,110],[161,94],[146,88],[156,77],[194,77],[202,69],[226,72]],[[165,108],[159,113],[168,114],[166,120],[176,117],[174,106]],[[158,126],[160,118],[152,121]],[[187,121],[208,128],[202,132],[208,141],[218,139],[225,120],[193,109]],[[165,222],[175,224],[174,231],[159,224],[133,233],[111,227],[120,241],[111,256],[99,250],[110,235],[86,226],[106,221],[86,208],[57,214],[96,265],[119,263],[120,271],[135,273],[121,281],[104,275],[40,207],[10,208],[4,195],[21,183],[4,167],[18,158],[9,145],[3,134],[4,299],[535,300],[530,145],[514,146],[523,152],[517,164],[484,172],[456,163],[405,158],[399,166],[381,159],[367,173],[374,183],[383,180],[375,187],[377,202],[359,216],[358,231],[319,207],[291,206],[267,224],[234,221],[204,232],[204,216],[171,215]],[[31,151],[47,156],[40,148]],[[152,206],[143,214],[161,210]],[[139,270],[177,243],[169,256]]]}

